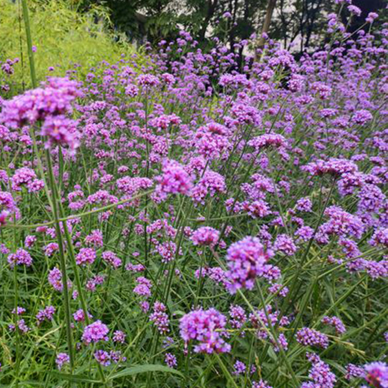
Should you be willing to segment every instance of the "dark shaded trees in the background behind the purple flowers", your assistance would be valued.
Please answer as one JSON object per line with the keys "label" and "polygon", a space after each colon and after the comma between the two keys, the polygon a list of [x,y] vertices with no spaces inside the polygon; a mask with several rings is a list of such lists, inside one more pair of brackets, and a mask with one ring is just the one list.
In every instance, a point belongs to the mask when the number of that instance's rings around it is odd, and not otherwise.
{"label": "dark shaded trees in the background behind the purple flowers", "polygon": [[[83,0],[80,10],[96,3],[108,7],[114,30],[132,42],[157,44],[176,37],[183,28],[201,48],[211,46],[211,38],[217,37],[232,50],[240,50],[235,47],[240,40],[260,34],[268,6],[268,0]],[[353,4],[362,10],[361,16],[349,19],[346,4],[340,15],[350,32],[363,25],[369,12],[384,9],[387,1],[353,0]],[[326,16],[338,11],[335,0],[276,0],[269,34],[285,49],[302,54],[324,40]]]}

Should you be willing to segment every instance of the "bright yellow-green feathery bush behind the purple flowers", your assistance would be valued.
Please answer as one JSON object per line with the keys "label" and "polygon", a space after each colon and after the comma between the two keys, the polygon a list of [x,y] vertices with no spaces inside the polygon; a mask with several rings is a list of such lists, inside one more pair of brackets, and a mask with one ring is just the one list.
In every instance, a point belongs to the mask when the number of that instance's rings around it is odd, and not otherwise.
{"label": "bright yellow-green feathery bush behind the purple flowers", "polygon": [[[104,7],[81,14],[69,1],[29,1],[28,5],[39,81],[44,80],[50,66],[54,67],[52,75],[64,75],[77,64],[82,76],[102,60],[114,63],[121,54],[128,57],[135,52],[129,43],[107,31],[110,20]],[[28,88],[30,73],[20,0],[0,0],[0,9],[0,61],[20,58],[14,66],[13,87],[19,88],[24,82]]]}

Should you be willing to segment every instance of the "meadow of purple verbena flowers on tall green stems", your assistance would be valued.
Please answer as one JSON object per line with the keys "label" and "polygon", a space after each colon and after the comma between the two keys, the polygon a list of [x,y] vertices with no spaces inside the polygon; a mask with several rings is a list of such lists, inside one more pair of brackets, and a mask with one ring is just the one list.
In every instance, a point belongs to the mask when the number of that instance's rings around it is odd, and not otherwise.
{"label": "meadow of purple verbena flowers on tall green stems", "polygon": [[41,83],[30,45],[18,94],[3,61],[1,387],[387,388],[377,17],[298,61],[181,31]]}

